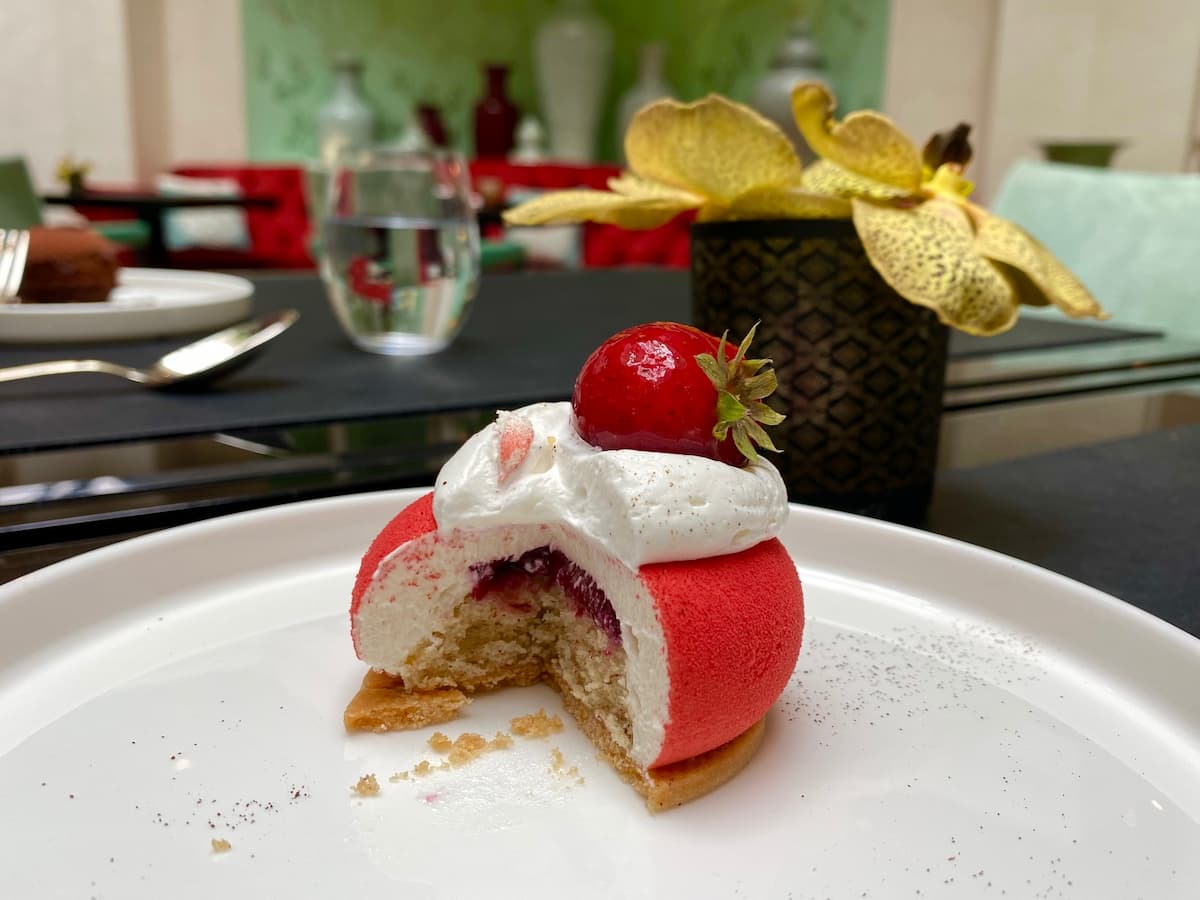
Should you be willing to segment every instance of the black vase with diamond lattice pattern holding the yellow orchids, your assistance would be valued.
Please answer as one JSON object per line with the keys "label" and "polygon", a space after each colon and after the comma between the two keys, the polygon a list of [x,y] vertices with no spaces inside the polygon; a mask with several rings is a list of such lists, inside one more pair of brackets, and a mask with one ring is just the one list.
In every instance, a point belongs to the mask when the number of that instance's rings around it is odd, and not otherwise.
{"label": "black vase with diamond lattice pattern holding the yellow orchids", "polygon": [[696,325],[775,362],[773,462],[797,503],[917,522],[929,505],[947,329],[871,268],[848,221],[709,222],[691,232]]}

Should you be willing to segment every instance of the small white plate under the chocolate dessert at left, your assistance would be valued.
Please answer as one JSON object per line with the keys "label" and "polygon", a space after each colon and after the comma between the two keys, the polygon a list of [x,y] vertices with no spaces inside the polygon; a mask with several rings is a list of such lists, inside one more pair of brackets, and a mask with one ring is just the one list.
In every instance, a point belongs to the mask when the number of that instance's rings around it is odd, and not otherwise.
{"label": "small white plate under the chocolate dessert at left", "polygon": [[0,304],[0,343],[90,343],[214,331],[250,316],[236,275],[121,269],[102,304]]}

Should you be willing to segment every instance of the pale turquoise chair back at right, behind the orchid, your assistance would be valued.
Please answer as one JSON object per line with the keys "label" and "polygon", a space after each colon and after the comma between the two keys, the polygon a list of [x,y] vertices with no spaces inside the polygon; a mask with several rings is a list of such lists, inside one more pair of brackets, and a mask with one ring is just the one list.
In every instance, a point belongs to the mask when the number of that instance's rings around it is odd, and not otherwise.
{"label": "pale turquoise chair back at right, behind the orchid", "polygon": [[1200,336],[1200,175],[1021,160],[991,209],[1045,244],[1115,324]]}

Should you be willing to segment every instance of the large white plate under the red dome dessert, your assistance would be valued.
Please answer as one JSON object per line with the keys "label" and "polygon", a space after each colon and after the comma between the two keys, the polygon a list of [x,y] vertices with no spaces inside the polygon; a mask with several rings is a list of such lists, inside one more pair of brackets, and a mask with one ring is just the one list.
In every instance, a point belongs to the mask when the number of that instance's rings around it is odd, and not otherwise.
{"label": "large white plate under the red dome dessert", "polygon": [[[346,607],[415,496],[230,516],[0,588],[0,896],[1195,898],[1200,642],[804,508],[784,535],[802,661],[715,793],[650,816],[570,725],[390,782],[438,758],[433,730],[343,733]],[[502,691],[442,728],[539,707],[560,710]],[[556,746],[584,784],[551,772]],[[350,792],[366,773],[380,796]]]}

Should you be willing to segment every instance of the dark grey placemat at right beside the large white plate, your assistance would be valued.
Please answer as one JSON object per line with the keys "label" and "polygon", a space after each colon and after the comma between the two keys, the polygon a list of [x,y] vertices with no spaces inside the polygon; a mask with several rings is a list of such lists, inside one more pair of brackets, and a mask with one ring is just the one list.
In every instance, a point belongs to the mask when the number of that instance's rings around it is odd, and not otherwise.
{"label": "dark grey placemat at right beside the large white plate", "polygon": [[1200,637],[1200,425],[940,473],[925,527]]}

